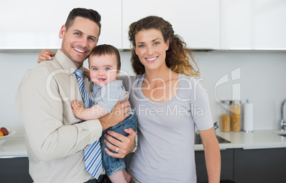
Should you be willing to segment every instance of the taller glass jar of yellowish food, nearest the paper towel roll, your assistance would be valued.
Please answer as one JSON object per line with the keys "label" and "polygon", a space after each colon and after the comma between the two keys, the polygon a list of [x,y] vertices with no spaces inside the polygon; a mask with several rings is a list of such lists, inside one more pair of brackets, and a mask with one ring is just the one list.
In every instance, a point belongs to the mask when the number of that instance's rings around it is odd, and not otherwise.
{"label": "taller glass jar of yellowish food, nearest the paper towel roll", "polygon": [[240,100],[231,103],[231,131],[240,131]]}

